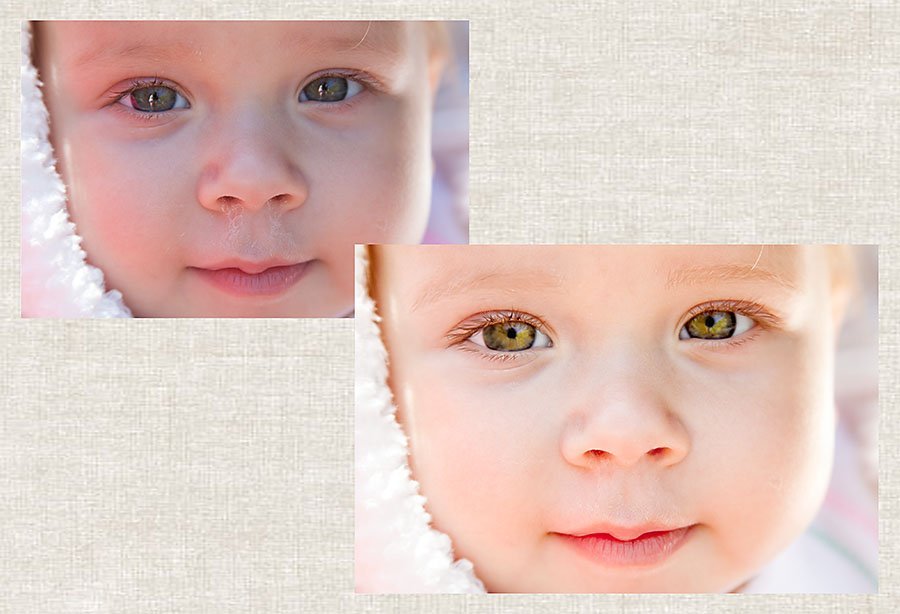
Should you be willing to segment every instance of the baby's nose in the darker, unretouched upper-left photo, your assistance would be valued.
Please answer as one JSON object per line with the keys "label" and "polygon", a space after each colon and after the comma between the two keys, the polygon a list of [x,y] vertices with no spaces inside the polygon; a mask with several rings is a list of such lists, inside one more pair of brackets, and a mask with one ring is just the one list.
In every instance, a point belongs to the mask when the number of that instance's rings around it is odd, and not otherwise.
{"label": "baby's nose in the darker, unretouched upper-left photo", "polygon": [[256,211],[270,204],[289,210],[306,202],[309,186],[289,139],[262,120],[243,124],[226,127],[230,138],[207,145],[197,185],[200,204],[221,212],[234,206]]}

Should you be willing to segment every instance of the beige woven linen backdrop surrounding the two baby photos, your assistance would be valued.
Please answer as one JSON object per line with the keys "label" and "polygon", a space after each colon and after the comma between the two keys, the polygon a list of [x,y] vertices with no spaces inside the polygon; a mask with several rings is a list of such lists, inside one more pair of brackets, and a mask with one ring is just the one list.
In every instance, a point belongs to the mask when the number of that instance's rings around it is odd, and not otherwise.
{"label": "beige woven linen backdrop surrounding the two baby photos", "polygon": [[[56,4],[2,9],[0,612],[900,606],[896,2]],[[881,244],[880,594],[354,595],[351,322],[18,319],[19,28],[63,16],[470,20],[472,242]]]}

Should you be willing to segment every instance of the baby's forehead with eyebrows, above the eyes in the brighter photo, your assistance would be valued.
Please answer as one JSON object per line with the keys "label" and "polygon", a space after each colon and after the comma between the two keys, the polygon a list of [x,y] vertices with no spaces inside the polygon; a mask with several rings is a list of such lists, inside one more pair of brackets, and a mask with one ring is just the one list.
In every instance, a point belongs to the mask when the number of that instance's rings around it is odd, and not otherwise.
{"label": "baby's forehead with eyebrows, above the eyes in the brighter photo", "polygon": [[382,273],[425,295],[446,288],[654,286],[661,291],[711,283],[768,284],[797,290],[811,260],[804,246],[387,246]]}

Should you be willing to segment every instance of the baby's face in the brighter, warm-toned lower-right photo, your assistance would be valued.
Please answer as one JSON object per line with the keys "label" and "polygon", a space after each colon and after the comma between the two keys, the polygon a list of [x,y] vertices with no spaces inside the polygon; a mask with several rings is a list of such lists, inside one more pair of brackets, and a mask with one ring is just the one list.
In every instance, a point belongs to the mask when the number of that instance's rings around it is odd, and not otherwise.
{"label": "baby's face in the brighter, warm-toned lower-right photo", "polygon": [[413,477],[488,590],[732,591],[817,511],[823,248],[393,246],[373,272]]}

